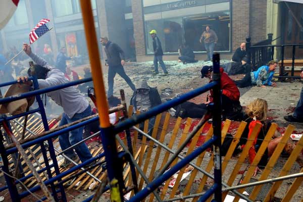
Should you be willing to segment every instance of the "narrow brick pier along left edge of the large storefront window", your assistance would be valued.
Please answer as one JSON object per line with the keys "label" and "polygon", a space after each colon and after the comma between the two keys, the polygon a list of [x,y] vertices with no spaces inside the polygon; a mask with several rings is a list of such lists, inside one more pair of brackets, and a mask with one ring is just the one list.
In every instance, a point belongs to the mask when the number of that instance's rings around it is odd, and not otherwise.
{"label": "narrow brick pier along left edge of the large storefront window", "polygon": [[142,1],[132,0],[132,14],[137,56],[145,56],[144,25],[142,16]]}

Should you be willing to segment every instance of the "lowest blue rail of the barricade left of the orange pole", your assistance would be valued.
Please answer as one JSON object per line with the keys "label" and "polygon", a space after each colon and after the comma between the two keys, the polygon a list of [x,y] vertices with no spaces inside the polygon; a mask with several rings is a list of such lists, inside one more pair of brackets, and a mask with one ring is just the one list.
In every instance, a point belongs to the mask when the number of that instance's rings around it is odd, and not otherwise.
{"label": "lowest blue rail of the barricade left of the orange pole", "polygon": [[[68,175],[68,174],[71,174],[71,173],[77,171],[78,169],[81,169],[83,166],[86,166],[86,165],[90,164],[91,162],[93,162],[93,161],[95,161],[95,160],[100,159],[100,158],[103,158],[104,156],[105,156],[104,153],[99,154],[99,155],[97,155],[96,157],[93,157],[93,158],[91,158],[91,159],[89,159],[89,160],[83,162],[82,164],[79,164],[79,165],[77,165],[77,166],[74,166],[74,167],[72,167],[71,169],[69,169],[69,170],[67,170],[67,171],[65,171],[65,172],[63,172],[63,173],[60,173],[59,175],[57,175],[57,176],[55,176],[55,177],[53,177],[53,178],[51,178],[51,179],[45,180],[45,181],[44,181],[44,184],[47,186],[48,184],[51,184],[51,183],[57,181],[58,179],[61,179],[62,177],[66,176],[66,175]],[[37,190],[39,190],[39,189],[40,189],[40,186],[37,185],[37,186],[34,186],[33,188],[31,188],[30,191],[31,191],[31,192],[35,192],[35,191],[37,191]],[[29,193],[28,191],[24,191],[23,193],[20,193],[20,198],[24,198],[24,197],[28,196],[29,194],[30,194],[30,193]]]}

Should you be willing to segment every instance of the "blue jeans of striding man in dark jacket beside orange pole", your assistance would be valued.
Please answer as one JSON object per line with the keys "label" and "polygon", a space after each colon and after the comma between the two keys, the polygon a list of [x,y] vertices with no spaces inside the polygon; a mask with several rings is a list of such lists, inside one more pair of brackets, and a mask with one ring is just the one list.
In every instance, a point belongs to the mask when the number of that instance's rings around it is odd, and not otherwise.
{"label": "blue jeans of striding man in dark jacket beside orange pole", "polygon": [[122,65],[110,66],[109,74],[108,74],[108,84],[109,84],[108,97],[114,94],[114,78],[116,74],[119,74],[133,91],[136,91],[135,85],[131,82],[130,78],[126,75]]}

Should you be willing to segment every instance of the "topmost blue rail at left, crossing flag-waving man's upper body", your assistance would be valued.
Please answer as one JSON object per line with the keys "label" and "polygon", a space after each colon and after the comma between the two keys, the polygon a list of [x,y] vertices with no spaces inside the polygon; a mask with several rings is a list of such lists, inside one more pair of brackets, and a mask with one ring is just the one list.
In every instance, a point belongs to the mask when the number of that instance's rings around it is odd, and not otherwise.
{"label": "topmost blue rail at left, crossing flag-waving man's upper body", "polygon": [[[55,90],[59,90],[59,89],[62,89],[62,88],[67,88],[67,87],[74,86],[74,85],[79,85],[81,83],[86,83],[86,82],[90,82],[90,81],[92,81],[91,78],[80,79],[80,80],[77,80],[77,81],[71,81],[71,82],[64,83],[64,84],[57,85],[57,86],[52,86],[52,87],[43,88],[43,89],[39,89],[39,90],[32,90],[30,92],[22,93],[22,94],[19,94],[19,95],[5,97],[5,98],[0,99],[0,105],[2,105],[4,103],[13,102],[13,101],[18,100],[18,99],[23,99],[23,98],[26,98],[26,97],[31,97],[31,96],[35,96],[35,95],[43,94],[43,93],[47,93],[47,92],[52,92],[52,91],[55,91]],[[15,81],[15,83],[17,83],[17,81]]]}

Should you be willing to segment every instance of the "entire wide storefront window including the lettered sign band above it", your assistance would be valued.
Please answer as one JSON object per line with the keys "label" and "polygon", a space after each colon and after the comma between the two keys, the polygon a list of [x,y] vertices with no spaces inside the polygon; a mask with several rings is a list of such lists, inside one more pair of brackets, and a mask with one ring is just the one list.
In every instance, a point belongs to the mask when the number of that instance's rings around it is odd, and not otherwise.
{"label": "entire wide storefront window including the lettered sign band above it", "polygon": [[164,53],[178,53],[178,47],[186,42],[194,52],[205,52],[201,34],[210,26],[218,36],[217,52],[230,51],[230,2],[226,0],[158,0],[143,1],[146,54],[153,53],[153,40],[149,31],[156,29]]}

